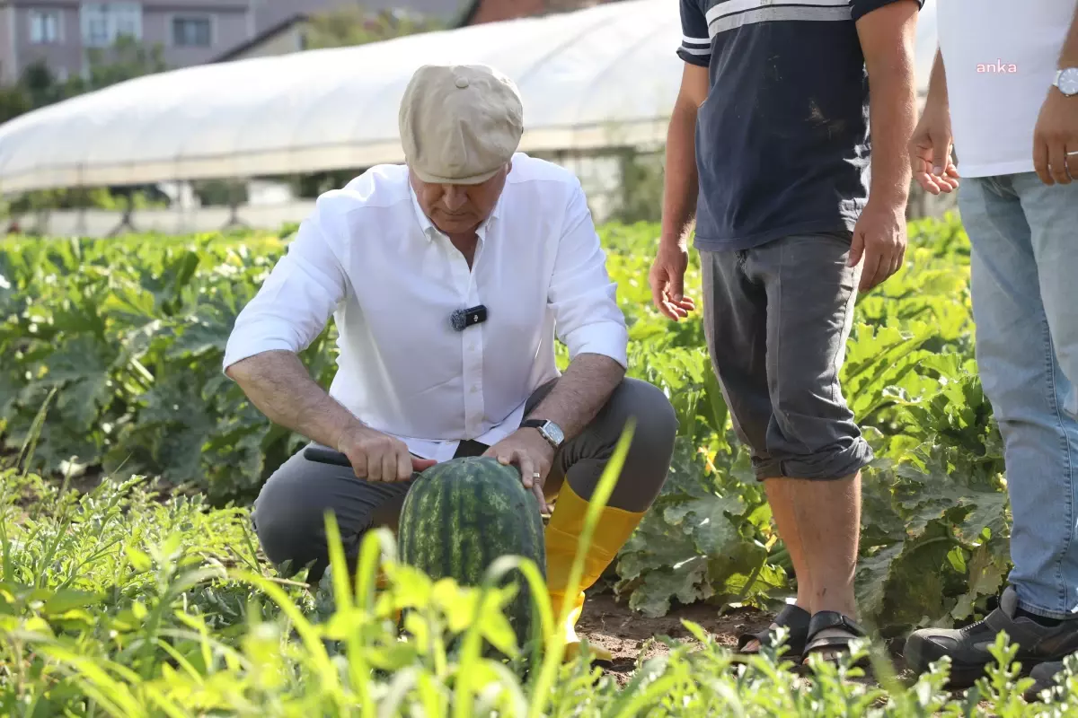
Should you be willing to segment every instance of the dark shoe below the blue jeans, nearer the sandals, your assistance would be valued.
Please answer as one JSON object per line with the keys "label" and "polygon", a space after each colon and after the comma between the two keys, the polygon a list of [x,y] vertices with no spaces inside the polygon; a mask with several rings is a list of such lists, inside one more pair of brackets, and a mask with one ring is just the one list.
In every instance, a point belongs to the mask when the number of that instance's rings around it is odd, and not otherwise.
{"label": "dark shoe below the blue jeans, nearer the sandals", "polygon": [[983,620],[964,629],[922,629],[906,640],[907,664],[918,675],[944,656],[951,659],[952,689],[966,689],[984,675],[984,668],[995,662],[989,649],[1000,632],[1019,647],[1014,660],[1022,673],[1029,673],[1038,663],[1061,661],[1078,650],[1078,621],[1059,625],[1041,625],[1033,619],[1018,616],[1018,593],[1007,587],[999,607]]}

